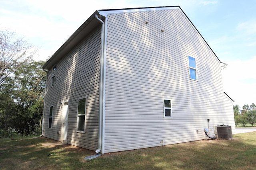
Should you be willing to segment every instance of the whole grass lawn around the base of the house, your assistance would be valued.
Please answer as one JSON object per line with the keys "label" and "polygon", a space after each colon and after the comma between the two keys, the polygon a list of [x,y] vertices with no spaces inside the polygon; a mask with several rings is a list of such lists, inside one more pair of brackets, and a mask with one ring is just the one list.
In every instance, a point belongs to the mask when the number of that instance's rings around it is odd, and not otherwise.
{"label": "whole grass lawn around the base of the house", "polygon": [[72,145],[43,146],[57,142],[44,137],[0,139],[0,169],[255,169],[256,132],[233,137],[107,153],[92,160],[84,157],[94,154],[93,151]]}

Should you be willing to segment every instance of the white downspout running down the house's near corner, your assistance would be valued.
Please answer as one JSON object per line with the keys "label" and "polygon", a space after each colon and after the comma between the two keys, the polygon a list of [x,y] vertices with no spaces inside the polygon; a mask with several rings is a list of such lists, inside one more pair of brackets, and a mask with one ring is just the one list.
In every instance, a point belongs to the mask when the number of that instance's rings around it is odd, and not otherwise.
{"label": "white downspout running down the house's near corner", "polygon": [[105,23],[100,18],[98,14],[95,14],[101,23],[101,52],[100,52],[100,106],[99,106],[99,132],[98,132],[98,149],[95,150],[96,153],[99,153],[102,150],[102,137],[103,137],[103,104],[104,104],[104,51],[105,51]]}

